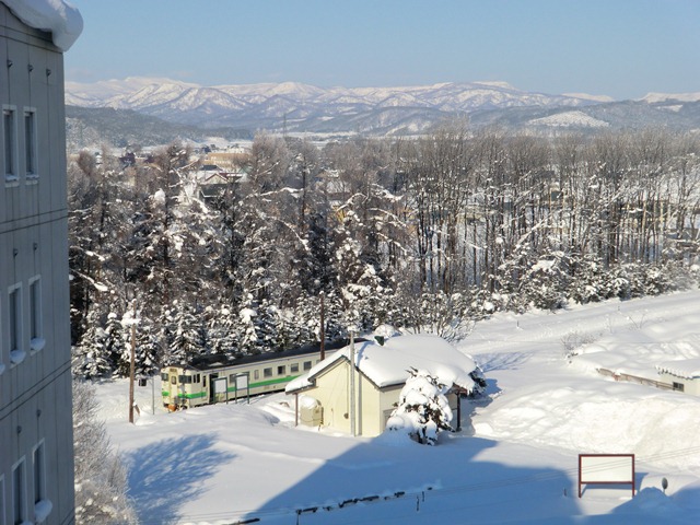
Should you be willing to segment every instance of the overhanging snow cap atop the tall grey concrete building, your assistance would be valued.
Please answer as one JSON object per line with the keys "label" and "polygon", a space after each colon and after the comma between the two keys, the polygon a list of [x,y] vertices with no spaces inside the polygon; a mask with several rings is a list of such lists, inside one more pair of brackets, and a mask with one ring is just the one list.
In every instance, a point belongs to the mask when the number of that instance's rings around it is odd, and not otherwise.
{"label": "overhanging snow cap atop the tall grey concrete building", "polygon": [[0,0],[30,27],[51,33],[54,45],[67,51],[83,31],[83,18],[66,0]]}

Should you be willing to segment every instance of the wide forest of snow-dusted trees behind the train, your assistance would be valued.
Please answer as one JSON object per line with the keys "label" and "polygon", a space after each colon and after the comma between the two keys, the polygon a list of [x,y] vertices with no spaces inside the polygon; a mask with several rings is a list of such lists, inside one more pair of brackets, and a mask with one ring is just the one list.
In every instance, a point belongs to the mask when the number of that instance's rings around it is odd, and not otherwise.
{"label": "wide forest of snow-dusted trees behind the train", "polygon": [[317,147],[258,136],[202,196],[182,144],[69,166],[75,370],[264,352],[389,323],[457,337],[499,310],[630,299],[697,281],[700,137],[472,132]]}

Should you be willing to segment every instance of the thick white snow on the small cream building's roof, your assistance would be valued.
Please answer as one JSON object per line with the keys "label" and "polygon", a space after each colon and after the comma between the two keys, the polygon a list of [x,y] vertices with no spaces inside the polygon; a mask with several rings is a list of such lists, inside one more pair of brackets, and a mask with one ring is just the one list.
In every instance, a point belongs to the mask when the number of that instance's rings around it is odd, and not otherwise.
{"label": "thick white snow on the small cream building's roof", "polygon": [[[350,347],[345,347],[320,363],[306,375],[292,381],[287,392],[301,390],[313,385],[314,378],[340,360],[350,361]],[[438,336],[418,335],[392,337],[384,346],[373,341],[355,343],[355,364],[377,387],[400,385],[409,376],[408,370],[425,370],[439,382],[457,385],[471,392],[475,387],[470,373],[477,368],[471,358],[462,353]]]}

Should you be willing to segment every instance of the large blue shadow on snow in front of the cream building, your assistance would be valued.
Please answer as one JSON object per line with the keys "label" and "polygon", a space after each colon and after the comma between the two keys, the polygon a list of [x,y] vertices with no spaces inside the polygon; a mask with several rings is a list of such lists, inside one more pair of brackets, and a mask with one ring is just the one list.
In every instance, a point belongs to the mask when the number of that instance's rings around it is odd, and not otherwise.
{"label": "large blue shadow on snow in front of the cream building", "polygon": [[570,472],[516,466],[533,448],[509,445],[510,457],[497,442],[469,436],[468,417],[463,423],[466,431],[443,432],[436,446],[386,433],[359,441],[241,523],[502,523],[579,513]]}

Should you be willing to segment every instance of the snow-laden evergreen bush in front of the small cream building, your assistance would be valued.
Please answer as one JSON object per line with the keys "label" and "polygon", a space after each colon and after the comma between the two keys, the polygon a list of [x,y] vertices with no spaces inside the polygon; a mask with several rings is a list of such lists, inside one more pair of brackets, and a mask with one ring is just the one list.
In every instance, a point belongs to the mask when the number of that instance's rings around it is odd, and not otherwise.
{"label": "snow-laden evergreen bush in front of the small cream building", "polygon": [[386,430],[405,432],[418,443],[434,445],[440,432],[452,430],[447,387],[424,370],[411,369],[409,372],[410,377],[406,380]]}

